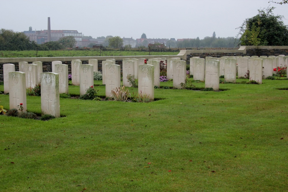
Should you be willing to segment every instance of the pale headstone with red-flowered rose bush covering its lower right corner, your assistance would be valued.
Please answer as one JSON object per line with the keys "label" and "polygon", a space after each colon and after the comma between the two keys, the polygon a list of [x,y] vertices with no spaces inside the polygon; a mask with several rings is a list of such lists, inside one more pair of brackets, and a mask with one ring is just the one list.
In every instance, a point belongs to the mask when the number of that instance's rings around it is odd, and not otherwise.
{"label": "pale headstone with red-flowered rose bush covering its lower right corner", "polygon": [[94,85],[93,65],[82,64],[80,66],[80,96],[86,93],[86,90]]}

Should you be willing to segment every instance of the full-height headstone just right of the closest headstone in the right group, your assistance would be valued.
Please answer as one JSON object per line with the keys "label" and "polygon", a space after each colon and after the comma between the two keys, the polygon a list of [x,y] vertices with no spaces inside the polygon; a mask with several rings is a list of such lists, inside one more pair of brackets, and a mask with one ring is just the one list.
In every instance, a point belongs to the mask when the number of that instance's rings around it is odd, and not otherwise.
{"label": "full-height headstone just right of the closest headstone in the right group", "polygon": [[227,58],[224,61],[224,80],[236,83],[236,59]]}

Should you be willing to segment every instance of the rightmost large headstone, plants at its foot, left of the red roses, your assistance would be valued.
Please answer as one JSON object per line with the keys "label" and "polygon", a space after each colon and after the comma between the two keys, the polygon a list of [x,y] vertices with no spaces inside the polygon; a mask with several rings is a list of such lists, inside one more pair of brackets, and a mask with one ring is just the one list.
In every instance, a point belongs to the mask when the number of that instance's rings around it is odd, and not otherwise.
{"label": "rightmost large headstone, plants at its foot, left of the red roses", "polygon": [[250,71],[249,80],[254,80],[259,84],[262,84],[262,59],[251,58],[250,59]]}

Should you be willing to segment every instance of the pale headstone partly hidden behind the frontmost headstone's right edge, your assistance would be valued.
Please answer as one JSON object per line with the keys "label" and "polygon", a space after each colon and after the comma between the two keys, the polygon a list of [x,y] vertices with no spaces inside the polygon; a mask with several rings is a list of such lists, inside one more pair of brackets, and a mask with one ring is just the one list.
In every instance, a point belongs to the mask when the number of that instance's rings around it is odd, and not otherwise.
{"label": "pale headstone partly hidden behind the frontmost headstone's right edge", "polygon": [[55,64],[55,73],[59,74],[59,93],[68,94],[68,65]]}

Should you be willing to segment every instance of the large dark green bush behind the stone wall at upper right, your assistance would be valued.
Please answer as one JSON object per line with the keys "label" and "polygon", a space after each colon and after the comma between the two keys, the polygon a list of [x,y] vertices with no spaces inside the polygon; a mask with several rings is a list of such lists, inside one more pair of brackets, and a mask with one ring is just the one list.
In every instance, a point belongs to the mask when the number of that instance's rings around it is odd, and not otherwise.
{"label": "large dark green bush behind the stone wall at upper right", "polygon": [[241,45],[288,45],[288,28],[283,23],[283,16],[275,16],[272,11],[275,7],[258,9],[258,14],[247,18],[238,27]]}

